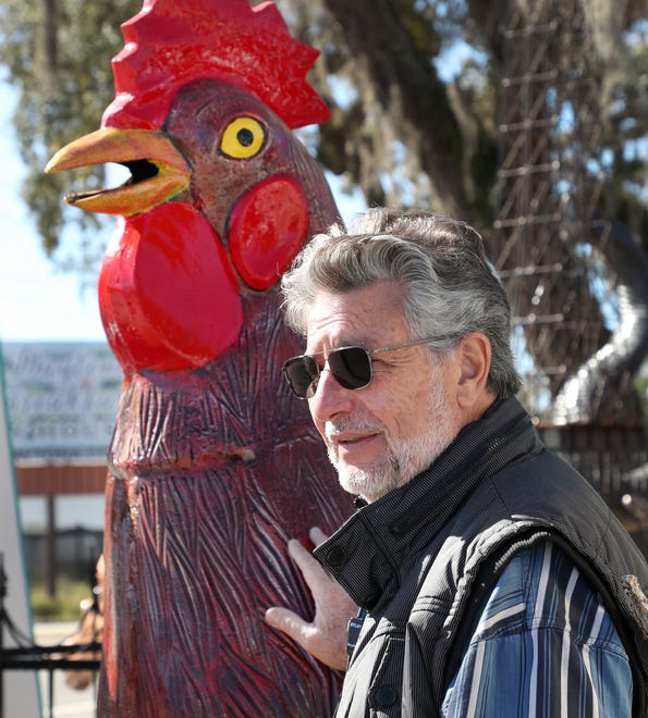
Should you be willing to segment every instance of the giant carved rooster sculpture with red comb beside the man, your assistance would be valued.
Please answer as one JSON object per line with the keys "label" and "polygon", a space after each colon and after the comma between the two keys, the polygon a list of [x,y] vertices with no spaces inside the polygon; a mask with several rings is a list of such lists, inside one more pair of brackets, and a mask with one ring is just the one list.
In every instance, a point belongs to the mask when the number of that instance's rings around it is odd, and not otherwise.
{"label": "giant carved rooster sculpture with red comb beside the man", "polygon": [[330,715],[340,676],[262,620],[313,610],[286,541],[351,512],[281,377],[301,345],[278,280],[338,219],[291,132],[328,116],[305,79],[318,53],[270,2],[146,0],[122,30],[101,128],[47,168],[132,175],[66,198],[120,215],[99,277],[124,382],[98,711]]}

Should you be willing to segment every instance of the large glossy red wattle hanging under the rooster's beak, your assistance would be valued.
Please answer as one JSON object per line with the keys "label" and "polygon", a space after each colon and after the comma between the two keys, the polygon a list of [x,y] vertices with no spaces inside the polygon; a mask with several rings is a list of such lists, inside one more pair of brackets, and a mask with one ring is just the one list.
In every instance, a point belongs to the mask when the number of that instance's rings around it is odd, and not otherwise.
{"label": "large glossy red wattle hanging under the rooster's beak", "polygon": [[203,367],[235,342],[243,324],[220,238],[180,202],[119,221],[99,276],[99,307],[126,374]]}

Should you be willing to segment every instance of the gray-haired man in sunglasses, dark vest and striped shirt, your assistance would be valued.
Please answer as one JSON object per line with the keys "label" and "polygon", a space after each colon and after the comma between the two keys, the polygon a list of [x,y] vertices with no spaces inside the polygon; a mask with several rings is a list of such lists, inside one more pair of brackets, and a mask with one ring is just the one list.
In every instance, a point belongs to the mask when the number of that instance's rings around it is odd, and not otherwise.
{"label": "gray-haired man in sunglasses, dark vest and striped shirt", "polygon": [[[284,372],[356,513],[289,548],[316,616],[267,612],[332,667],[339,716],[645,716],[648,566],[517,399],[510,307],[469,226],[376,209],[282,284]],[[316,543],[321,532],[313,535]]]}

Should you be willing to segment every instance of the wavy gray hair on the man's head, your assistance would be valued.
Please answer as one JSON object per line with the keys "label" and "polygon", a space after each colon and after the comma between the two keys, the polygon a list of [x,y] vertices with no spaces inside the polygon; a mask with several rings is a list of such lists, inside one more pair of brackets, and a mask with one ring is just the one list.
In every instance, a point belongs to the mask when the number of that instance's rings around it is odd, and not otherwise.
{"label": "wavy gray hair on the man's head", "polygon": [[505,398],[522,385],[511,352],[511,307],[484,251],[481,236],[464,222],[417,210],[372,208],[350,224],[316,235],[281,282],[285,321],[306,335],[319,292],[343,294],[396,281],[413,339],[443,351],[469,332],[492,347],[488,388]]}

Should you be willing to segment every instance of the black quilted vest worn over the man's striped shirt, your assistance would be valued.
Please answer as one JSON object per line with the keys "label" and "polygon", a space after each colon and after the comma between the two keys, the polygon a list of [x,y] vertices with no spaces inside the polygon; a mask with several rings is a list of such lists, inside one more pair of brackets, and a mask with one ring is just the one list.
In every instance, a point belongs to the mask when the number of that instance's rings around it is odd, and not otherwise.
{"label": "black quilted vest worn over the man's striped shirt", "polygon": [[[516,553],[547,540],[601,594],[629,657],[634,713],[646,716],[648,565],[590,484],[543,447],[516,399],[466,426],[427,471],[316,549],[368,610],[340,715],[364,715],[350,693],[367,691],[370,704],[379,670],[402,686],[394,715],[437,714],[476,606]],[[371,657],[354,666],[364,648]]]}

